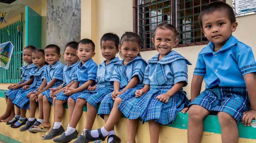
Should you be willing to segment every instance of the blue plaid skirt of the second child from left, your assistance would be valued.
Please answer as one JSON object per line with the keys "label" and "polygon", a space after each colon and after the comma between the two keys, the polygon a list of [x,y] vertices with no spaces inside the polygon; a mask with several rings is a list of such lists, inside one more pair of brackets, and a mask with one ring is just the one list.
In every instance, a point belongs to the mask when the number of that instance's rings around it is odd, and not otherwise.
{"label": "blue plaid skirt of the second child from left", "polygon": [[37,88],[28,88],[23,90],[18,94],[15,99],[12,101],[14,105],[22,109],[29,109],[29,98],[27,98],[27,94],[29,92],[35,91]]}

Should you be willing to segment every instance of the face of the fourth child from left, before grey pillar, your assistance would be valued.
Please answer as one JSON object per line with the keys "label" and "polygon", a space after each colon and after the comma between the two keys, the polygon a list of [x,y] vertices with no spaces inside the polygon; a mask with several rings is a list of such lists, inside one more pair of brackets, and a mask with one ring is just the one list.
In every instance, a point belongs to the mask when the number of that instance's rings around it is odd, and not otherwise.
{"label": "face of the fourth child from left, before grey pillar", "polygon": [[76,55],[76,49],[71,47],[66,47],[66,50],[63,53],[63,57],[65,62],[71,66],[78,60],[78,56]]}

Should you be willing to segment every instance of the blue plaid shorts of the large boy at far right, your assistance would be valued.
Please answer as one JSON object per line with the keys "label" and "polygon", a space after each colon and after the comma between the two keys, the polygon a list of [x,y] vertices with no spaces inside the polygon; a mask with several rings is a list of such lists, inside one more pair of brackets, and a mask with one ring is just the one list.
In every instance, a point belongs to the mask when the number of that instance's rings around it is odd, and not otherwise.
{"label": "blue plaid shorts of the large boy at far right", "polygon": [[235,118],[237,123],[242,119],[243,112],[250,110],[250,100],[246,88],[214,87],[204,90],[191,105],[199,105],[217,115],[225,112]]}

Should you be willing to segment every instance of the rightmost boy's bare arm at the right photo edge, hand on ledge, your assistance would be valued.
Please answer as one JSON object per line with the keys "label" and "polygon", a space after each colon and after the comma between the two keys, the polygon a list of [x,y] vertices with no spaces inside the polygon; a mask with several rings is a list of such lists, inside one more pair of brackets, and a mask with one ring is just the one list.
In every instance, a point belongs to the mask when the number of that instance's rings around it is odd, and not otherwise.
{"label": "rightmost boy's bare arm at the right photo edge, hand on ledge", "polygon": [[244,126],[250,126],[252,119],[256,119],[256,78],[255,73],[244,75],[244,81],[250,98],[251,110],[246,111],[242,117]]}

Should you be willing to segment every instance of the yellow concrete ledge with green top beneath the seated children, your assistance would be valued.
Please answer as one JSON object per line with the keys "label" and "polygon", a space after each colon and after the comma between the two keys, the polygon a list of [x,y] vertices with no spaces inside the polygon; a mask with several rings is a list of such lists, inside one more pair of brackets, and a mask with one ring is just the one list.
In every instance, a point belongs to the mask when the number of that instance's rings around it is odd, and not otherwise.
{"label": "yellow concrete ledge with green top beneath the seated children", "polygon": [[[2,104],[2,111],[1,113],[4,112],[4,107],[6,106],[4,103],[2,103],[3,101],[5,101],[4,98],[4,92],[6,90],[0,90],[0,97],[2,97],[2,100],[0,98],[0,101]],[[64,113],[64,117],[62,120],[63,126],[66,127],[67,123],[68,123],[68,115],[67,115],[67,104],[64,104],[65,109],[65,113]],[[99,107],[99,106],[98,106]],[[87,111],[86,106],[84,106],[83,109],[85,112]],[[29,111],[28,111],[29,112]],[[29,115],[27,113],[27,115]],[[36,113],[37,116],[37,113]],[[52,123],[52,111],[51,111],[51,123]],[[84,125],[85,125],[85,114],[83,114],[81,120],[79,121],[79,124],[77,125],[77,130],[79,132],[79,134],[81,133]],[[254,121],[255,122],[255,121]],[[137,132],[137,142],[149,142],[149,130],[148,130],[148,123],[145,123],[144,125],[141,124],[142,122],[139,123],[139,127],[138,127],[138,132]],[[163,142],[186,142],[186,132],[187,132],[187,123],[188,123],[188,114],[183,114],[181,112],[179,112],[173,122],[173,124],[171,125],[162,125],[161,126],[161,133],[160,133],[160,141]],[[102,127],[104,125],[104,121],[97,116],[94,126],[93,128],[99,128]],[[4,123],[0,123],[0,128],[2,131],[0,131],[0,133],[4,134],[5,136],[9,136],[12,138],[15,138],[18,141],[20,137],[18,137],[17,135],[13,136],[11,132],[15,131],[18,134],[23,134],[25,132],[19,132],[18,129],[11,129],[10,127],[7,127],[7,125],[5,125]],[[255,123],[252,124],[252,126],[250,127],[244,127],[244,125],[242,123],[238,124],[238,128],[239,128],[239,142],[256,142],[256,136],[255,136],[255,132],[256,132],[256,125]],[[116,133],[118,136],[120,136],[122,138],[122,140],[124,142],[127,141],[127,129],[126,129],[126,118],[125,116],[122,116],[122,118],[120,119],[119,123],[116,125],[115,127]],[[172,133],[172,135],[170,135]],[[36,141],[39,140],[39,142],[45,142],[43,140],[40,139],[40,136],[38,134],[30,134],[28,132],[25,133],[28,136],[34,136],[36,137]],[[179,138],[175,138],[175,135],[179,136]],[[219,125],[219,121],[218,121],[218,117],[214,116],[214,115],[209,115],[204,119],[204,135],[203,135],[203,139],[202,142],[207,141],[207,142],[218,142],[221,141],[221,129],[220,129],[220,125]],[[36,135],[36,136],[35,136]],[[211,136],[209,136],[211,135]],[[173,136],[173,137],[171,137]],[[182,139],[180,138],[182,136]],[[24,136],[22,136],[24,137]],[[33,137],[33,138],[34,138]],[[1,134],[0,134],[0,140],[1,140]],[[125,140],[126,139],[126,140]],[[24,139],[22,139],[24,141]],[[22,142],[23,142],[22,141]],[[30,141],[28,139],[25,139],[26,142],[33,142]],[[123,142],[122,141],[122,142]],[[49,141],[48,141],[49,142]]]}

